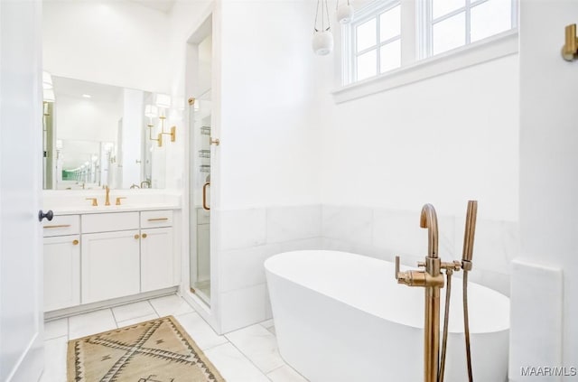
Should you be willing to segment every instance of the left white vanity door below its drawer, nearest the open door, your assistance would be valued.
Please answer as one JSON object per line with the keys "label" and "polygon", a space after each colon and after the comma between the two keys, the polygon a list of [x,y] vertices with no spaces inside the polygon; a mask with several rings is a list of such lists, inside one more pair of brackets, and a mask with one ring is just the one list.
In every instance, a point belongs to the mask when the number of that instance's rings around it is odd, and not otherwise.
{"label": "left white vanity door below its drawer, nearest the open door", "polygon": [[44,312],[80,303],[79,235],[44,238]]}

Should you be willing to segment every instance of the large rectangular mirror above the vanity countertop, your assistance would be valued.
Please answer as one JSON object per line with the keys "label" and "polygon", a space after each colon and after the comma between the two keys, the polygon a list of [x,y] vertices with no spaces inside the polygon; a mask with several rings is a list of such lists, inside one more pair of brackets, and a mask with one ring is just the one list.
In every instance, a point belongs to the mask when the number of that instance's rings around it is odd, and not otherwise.
{"label": "large rectangular mirror above the vanity countertop", "polygon": [[50,75],[43,82],[45,190],[164,187],[166,144],[158,136],[169,127],[163,108],[145,116],[152,92]]}

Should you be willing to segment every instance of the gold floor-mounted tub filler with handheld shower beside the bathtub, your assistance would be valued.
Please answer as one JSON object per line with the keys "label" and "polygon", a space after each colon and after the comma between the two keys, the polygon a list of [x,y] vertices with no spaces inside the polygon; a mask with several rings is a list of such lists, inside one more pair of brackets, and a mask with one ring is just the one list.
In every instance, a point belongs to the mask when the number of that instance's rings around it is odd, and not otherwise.
{"label": "gold floor-mounted tub filler with handheld shower beside the bathtub", "polygon": [[[473,238],[476,225],[476,213],[478,202],[470,200],[468,202],[468,212],[466,217],[466,228],[463,242],[463,255],[461,262],[453,261],[444,263],[438,256],[438,228],[437,215],[431,204],[425,204],[420,215],[420,227],[428,230],[428,255],[424,262],[419,262],[417,266],[424,267],[424,271],[410,270],[399,271],[399,256],[396,256],[396,280],[398,284],[408,286],[421,286],[425,288],[425,316],[424,316],[424,382],[443,382],[443,371],[445,365],[445,350],[447,343],[448,316],[450,302],[451,275],[454,271],[462,269],[464,271],[464,327],[466,337],[466,358],[468,363],[468,374],[471,375],[471,352],[470,352],[470,329],[467,310],[467,275],[471,270],[471,256],[473,250]],[[440,289],[443,288],[442,270],[445,270],[448,279],[448,291],[446,293],[446,314],[443,327],[443,350],[440,362]]]}

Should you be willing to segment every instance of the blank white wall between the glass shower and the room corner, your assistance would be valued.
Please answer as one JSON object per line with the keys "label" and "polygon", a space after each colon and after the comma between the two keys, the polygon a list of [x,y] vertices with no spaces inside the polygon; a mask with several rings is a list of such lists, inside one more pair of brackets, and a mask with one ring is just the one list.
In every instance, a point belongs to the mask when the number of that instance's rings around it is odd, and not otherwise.
{"label": "blank white wall between the glass shower and the room corner", "polygon": [[221,209],[320,201],[313,10],[303,1],[223,2]]}

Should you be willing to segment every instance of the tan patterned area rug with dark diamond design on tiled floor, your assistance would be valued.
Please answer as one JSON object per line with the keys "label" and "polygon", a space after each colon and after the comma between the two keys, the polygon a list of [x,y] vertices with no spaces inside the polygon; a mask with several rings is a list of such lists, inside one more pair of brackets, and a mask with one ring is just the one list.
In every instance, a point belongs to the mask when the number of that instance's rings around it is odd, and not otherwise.
{"label": "tan patterned area rug with dark diamond design on tiled floor", "polygon": [[172,316],[69,341],[68,380],[224,381]]}

